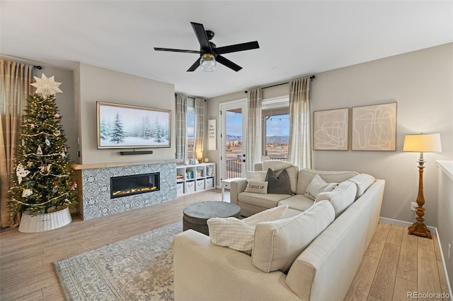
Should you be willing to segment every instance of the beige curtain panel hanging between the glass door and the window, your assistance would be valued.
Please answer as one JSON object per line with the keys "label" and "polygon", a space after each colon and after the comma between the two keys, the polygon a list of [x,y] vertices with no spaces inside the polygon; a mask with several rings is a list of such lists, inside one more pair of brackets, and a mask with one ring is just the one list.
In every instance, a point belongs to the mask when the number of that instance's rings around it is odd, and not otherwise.
{"label": "beige curtain panel hanging between the glass door and the window", "polygon": [[261,88],[248,91],[248,132],[246,144],[246,170],[253,170],[261,161],[263,134],[261,129]]}

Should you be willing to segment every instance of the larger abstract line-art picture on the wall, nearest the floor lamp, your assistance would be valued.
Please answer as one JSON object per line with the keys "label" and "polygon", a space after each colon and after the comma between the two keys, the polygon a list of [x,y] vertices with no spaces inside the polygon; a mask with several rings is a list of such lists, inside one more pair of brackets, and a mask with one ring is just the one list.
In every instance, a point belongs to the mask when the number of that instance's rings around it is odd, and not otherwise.
{"label": "larger abstract line-art picture on the wall, nearest the floor lamp", "polygon": [[396,151],[396,102],[352,107],[352,151]]}

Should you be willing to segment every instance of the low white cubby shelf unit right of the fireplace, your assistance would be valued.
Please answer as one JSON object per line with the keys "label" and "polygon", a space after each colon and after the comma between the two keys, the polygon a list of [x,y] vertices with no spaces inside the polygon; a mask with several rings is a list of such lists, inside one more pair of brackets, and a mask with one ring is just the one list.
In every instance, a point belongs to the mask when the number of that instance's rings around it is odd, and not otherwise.
{"label": "low white cubby shelf unit right of the fireplace", "polygon": [[215,163],[176,166],[178,196],[215,188]]}

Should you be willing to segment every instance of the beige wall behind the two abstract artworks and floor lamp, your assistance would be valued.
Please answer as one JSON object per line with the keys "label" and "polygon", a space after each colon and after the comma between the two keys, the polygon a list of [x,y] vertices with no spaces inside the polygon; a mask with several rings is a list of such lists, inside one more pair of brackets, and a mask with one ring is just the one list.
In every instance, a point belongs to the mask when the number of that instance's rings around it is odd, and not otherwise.
{"label": "beige wall behind the two abstract artworks and floor lamp", "polygon": [[[413,222],[410,203],[418,192],[418,153],[403,153],[405,134],[439,132],[442,153],[426,153],[425,220],[437,225],[435,160],[453,158],[453,44],[317,73],[311,82],[311,111],[397,102],[396,151],[314,151],[314,168],[356,170],[386,180],[381,216]],[[302,73],[302,72],[301,72]],[[273,97],[288,86],[265,89]],[[282,90],[283,89],[283,90]],[[286,92],[285,92],[286,90]],[[243,98],[243,92],[208,100],[209,119],[219,119],[219,103]],[[265,95],[266,97],[266,95]],[[210,151],[218,163],[219,152]]]}

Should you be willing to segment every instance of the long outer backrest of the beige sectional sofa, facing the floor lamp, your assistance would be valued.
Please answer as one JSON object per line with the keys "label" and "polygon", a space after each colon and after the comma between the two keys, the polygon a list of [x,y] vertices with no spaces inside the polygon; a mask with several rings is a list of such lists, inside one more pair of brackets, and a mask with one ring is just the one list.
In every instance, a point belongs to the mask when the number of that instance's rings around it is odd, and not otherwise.
{"label": "long outer backrest of the beige sectional sofa, facing the floor lamp", "polygon": [[384,186],[377,179],[294,261],[286,282],[302,299],[343,300],[379,223]]}

